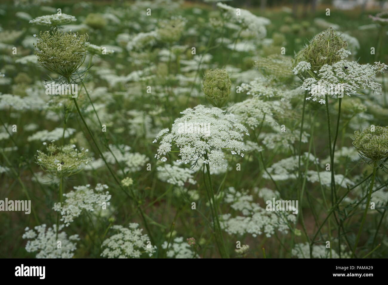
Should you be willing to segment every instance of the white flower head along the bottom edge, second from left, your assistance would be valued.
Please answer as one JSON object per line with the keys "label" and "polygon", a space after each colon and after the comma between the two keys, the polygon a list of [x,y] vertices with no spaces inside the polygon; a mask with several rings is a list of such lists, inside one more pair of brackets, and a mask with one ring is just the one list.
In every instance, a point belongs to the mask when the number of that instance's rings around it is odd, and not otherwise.
{"label": "white flower head along the bottom edge, second from left", "polygon": [[142,235],[138,223],[130,223],[129,228],[114,225],[111,227],[117,233],[102,242],[105,247],[101,256],[107,258],[139,258],[142,252],[150,257],[156,251],[156,245],[151,245],[148,235]]}

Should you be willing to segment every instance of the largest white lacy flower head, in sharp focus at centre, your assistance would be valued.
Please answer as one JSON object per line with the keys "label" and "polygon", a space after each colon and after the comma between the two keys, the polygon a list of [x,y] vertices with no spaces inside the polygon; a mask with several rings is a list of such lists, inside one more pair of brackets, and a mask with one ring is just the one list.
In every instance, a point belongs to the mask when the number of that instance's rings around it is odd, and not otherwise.
{"label": "largest white lacy flower head, in sharp focus at centre", "polygon": [[[245,126],[237,123],[234,114],[225,114],[217,107],[208,108],[198,105],[194,109],[186,109],[181,112],[184,116],[175,119],[171,132],[168,129],[161,130],[153,142],[157,142],[163,136],[155,155],[157,159],[166,161],[165,155],[171,151],[172,145],[179,148],[179,156],[183,161],[197,161],[208,153],[205,163],[211,162],[214,166],[223,165],[225,156],[223,149],[230,150],[231,154],[244,156],[244,133],[249,135]],[[208,126],[206,132],[182,132],[182,124]]]}

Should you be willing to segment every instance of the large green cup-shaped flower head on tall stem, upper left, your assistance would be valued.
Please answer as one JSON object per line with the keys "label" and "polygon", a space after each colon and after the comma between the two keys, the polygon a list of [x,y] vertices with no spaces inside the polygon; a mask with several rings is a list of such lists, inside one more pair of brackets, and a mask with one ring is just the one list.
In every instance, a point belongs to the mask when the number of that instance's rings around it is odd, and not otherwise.
{"label": "large green cup-shaped flower head on tall stem, upper left", "polygon": [[35,46],[35,55],[42,67],[69,79],[78,72],[85,60],[87,40],[87,34],[78,35],[57,30],[41,32]]}

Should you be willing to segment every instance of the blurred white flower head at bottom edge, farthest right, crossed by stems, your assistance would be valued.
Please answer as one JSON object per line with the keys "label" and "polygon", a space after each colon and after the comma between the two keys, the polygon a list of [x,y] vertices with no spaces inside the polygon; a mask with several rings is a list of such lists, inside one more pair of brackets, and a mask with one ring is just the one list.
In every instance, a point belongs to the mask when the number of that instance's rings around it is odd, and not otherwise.
{"label": "blurred white flower head at bottom edge, farthest right, crossed by stems", "polygon": [[[350,253],[345,252],[346,246],[341,245],[341,258],[350,258]],[[294,257],[298,258],[310,258],[310,247],[308,242],[304,244],[296,244],[291,250],[291,254]],[[312,257],[313,258],[330,258],[330,249],[326,248],[325,245],[313,245],[312,247]],[[338,253],[332,249],[331,250],[332,258],[340,258]]]}

